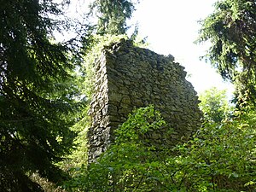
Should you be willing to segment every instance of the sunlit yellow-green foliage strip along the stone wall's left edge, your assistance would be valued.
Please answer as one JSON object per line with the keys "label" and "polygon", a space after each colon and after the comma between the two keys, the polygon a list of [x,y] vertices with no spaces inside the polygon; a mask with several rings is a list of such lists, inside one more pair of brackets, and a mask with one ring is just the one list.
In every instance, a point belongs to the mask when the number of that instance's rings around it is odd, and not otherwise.
{"label": "sunlit yellow-green foliage strip along the stone wall's left edge", "polygon": [[77,133],[77,137],[74,139],[74,145],[76,147],[73,148],[72,154],[68,155],[67,160],[61,163],[61,167],[65,170],[73,166],[87,165],[87,134],[91,121],[88,111],[90,109],[91,97],[94,93],[94,83],[96,80],[94,64],[100,58],[103,47],[120,38],[125,38],[125,36],[94,35],[91,37],[93,43],[91,44],[90,50],[84,55],[84,62],[79,68],[79,87],[81,94],[84,95],[86,104],[84,110],[80,112],[79,121],[71,128]]}

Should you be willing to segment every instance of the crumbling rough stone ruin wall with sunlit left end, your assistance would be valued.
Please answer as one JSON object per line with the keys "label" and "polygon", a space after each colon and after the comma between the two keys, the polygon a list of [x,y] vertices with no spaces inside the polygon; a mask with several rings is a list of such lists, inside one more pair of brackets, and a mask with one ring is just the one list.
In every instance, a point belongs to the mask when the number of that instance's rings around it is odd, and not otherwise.
{"label": "crumbling rough stone ruin wall with sunlit left end", "polygon": [[154,104],[174,129],[172,137],[166,138],[169,143],[188,138],[198,128],[198,97],[185,79],[184,67],[173,60],[172,55],[158,55],[125,40],[103,49],[95,66],[95,94],[90,103],[89,162],[113,142],[113,131],[134,108]]}

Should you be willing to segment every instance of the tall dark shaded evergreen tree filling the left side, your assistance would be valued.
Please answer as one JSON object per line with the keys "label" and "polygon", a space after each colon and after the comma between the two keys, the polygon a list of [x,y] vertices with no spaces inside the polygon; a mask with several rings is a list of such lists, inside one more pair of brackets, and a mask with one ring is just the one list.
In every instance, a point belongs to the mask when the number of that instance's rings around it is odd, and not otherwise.
{"label": "tall dark shaded evergreen tree filling the left side", "polygon": [[75,111],[68,48],[52,42],[61,15],[51,0],[0,0],[0,189],[39,191],[27,177],[58,181]]}

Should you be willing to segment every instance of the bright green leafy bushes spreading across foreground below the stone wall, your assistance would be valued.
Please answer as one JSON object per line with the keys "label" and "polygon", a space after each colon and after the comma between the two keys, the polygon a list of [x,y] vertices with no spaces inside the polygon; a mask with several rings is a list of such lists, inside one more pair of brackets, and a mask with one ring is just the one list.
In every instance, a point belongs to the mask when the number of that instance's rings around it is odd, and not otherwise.
{"label": "bright green leafy bushes spreading across foreground below the stone wall", "polygon": [[[69,191],[254,191],[256,113],[205,124],[187,143],[160,147],[151,132],[166,127],[152,106],[139,108],[89,166],[73,168]],[[172,129],[170,129],[172,131]],[[170,131],[170,132],[171,132]]]}

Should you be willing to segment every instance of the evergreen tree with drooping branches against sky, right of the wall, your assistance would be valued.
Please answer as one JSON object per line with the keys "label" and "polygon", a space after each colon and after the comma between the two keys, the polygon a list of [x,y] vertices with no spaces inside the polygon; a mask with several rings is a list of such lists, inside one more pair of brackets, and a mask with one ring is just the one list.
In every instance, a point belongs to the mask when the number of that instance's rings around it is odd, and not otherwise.
{"label": "evergreen tree with drooping branches against sky, right of the wall", "polygon": [[237,97],[255,102],[255,1],[218,1],[212,15],[202,21],[200,33],[199,42],[212,43],[207,54],[212,65],[224,79],[236,82]]}

